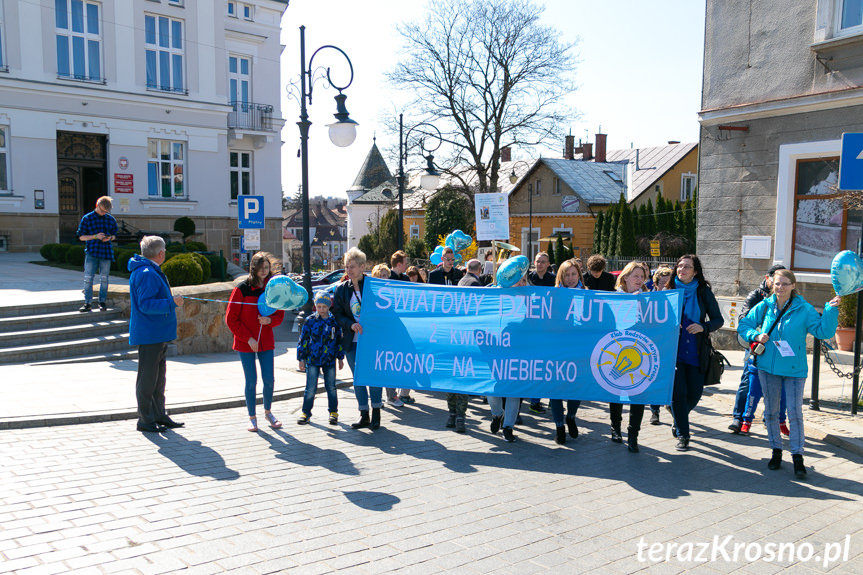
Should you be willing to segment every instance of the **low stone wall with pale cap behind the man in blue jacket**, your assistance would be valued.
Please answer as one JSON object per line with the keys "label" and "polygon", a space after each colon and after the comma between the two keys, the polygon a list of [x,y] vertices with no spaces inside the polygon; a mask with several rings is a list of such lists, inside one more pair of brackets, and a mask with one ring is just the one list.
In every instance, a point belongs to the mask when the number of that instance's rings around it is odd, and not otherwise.
{"label": "low stone wall with pale cap behind the man in blue jacket", "polygon": [[[235,282],[220,282],[197,286],[172,288],[174,295],[227,302]],[[131,314],[128,286],[111,285],[108,288],[108,305]],[[231,351],[233,336],[225,325],[227,303],[187,299],[177,308],[177,355],[218,353]]]}

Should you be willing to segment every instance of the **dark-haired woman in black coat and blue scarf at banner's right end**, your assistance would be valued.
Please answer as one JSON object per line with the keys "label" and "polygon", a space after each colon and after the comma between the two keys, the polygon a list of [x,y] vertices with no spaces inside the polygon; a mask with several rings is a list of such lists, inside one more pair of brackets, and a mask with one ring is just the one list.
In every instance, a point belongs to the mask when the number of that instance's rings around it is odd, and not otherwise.
{"label": "dark-haired woman in black coat and blue scarf at banner's right end", "polygon": [[675,449],[687,451],[689,412],[695,409],[704,393],[704,374],[710,360],[710,332],[722,327],[725,320],[710,283],[704,277],[698,256],[681,256],[676,269],[677,275],[671,278],[669,289],[683,290],[683,318],[671,393],[671,413],[674,415],[671,432],[677,438]]}

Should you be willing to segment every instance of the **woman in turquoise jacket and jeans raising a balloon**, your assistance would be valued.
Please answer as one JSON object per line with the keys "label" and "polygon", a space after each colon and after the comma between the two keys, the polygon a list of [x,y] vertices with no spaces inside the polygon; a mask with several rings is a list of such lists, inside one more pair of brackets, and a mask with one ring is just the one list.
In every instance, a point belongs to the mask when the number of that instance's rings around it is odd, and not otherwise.
{"label": "woman in turquoise jacket and jeans raising a balloon", "polygon": [[[839,298],[824,305],[819,314],[812,304],[797,294],[797,278],[790,270],[773,274],[773,295],[752,308],[740,319],[739,333],[750,343],[760,343],[764,352],[755,358],[758,378],[764,392],[764,421],[773,456],[767,467],[782,465],[782,435],[779,433],[779,399],[782,389],[788,403],[791,458],[794,475],[806,477],[803,465],[803,386],[809,367],[806,361],[806,334],[829,339],[836,334]],[[784,313],[783,313],[784,310]],[[781,317],[780,317],[781,314]],[[779,321],[776,318],[779,317]],[[770,327],[776,325],[770,331]],[[767,332],[770,331],[770,335]]]}

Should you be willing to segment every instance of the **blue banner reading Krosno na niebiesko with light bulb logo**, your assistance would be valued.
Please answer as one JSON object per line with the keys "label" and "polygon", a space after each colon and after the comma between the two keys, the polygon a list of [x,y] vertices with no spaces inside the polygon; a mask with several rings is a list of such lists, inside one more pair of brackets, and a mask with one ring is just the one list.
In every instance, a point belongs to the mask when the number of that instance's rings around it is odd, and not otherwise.
{"label": "blue banner reading Krosno na niebiesko with light bulb logo", "polygon": [[360,385],[671,403],[678,290],[364,284],[354,374]]}

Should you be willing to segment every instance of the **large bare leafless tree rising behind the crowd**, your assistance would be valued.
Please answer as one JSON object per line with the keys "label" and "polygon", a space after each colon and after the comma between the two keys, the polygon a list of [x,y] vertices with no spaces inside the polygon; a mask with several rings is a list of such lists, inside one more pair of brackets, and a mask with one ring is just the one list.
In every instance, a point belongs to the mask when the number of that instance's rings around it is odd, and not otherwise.
{"label": "large bare leafless tree rising behind the crowd", "polygon": [[[503,146],[548,145],[574,114],[574,43],[539,22],[529,0],[438,0],[397,27],[405,58],[387,77],[452,144],[452,176],[468,193],[497,190]],[[431,134],[427,134],[431,135]],[[469,165],[470,173],[457,166]]]}

